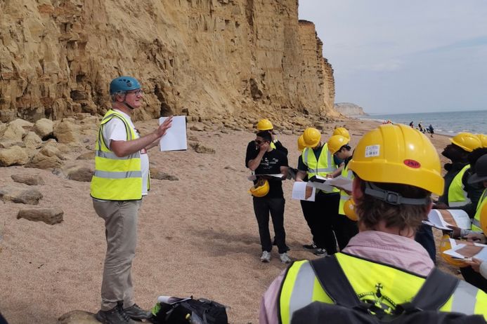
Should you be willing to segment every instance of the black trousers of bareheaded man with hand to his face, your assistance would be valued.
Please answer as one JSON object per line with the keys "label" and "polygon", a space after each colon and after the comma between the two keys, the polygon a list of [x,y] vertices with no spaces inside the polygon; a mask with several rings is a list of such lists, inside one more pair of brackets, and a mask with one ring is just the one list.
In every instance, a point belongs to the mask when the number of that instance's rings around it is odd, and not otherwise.
{"label": "black trousers of bareheaded man with hand to his face", "polygon": [[254,197],[254,212],[259,224],[259,236],[262,250],[271,252],[272,242],[269,231],[269,213],[275,234],[275,245],[278,245],[279,253],[289,250],[286,245],[286,232],[284,230],[284,198]]}

